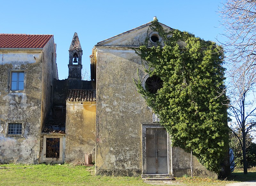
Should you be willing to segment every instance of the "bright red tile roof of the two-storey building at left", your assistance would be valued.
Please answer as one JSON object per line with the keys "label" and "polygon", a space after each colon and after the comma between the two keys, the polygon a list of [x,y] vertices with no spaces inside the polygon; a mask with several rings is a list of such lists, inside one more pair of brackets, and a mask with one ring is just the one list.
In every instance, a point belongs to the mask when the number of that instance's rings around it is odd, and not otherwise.
{"label": "bright red tile roof of the two-storey building at left", "polygon": [[53,35],[0,34],[0,48],[43,48]]}

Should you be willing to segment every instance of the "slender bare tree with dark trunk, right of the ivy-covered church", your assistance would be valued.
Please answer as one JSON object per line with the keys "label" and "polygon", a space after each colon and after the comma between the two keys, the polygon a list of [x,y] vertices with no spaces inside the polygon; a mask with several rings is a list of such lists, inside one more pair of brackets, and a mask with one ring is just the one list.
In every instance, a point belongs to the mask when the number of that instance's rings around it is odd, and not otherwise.
{"label": "slender bare tree with dark trunk, right of the ivy-covered church", "polygon": [[229,115],[233,119],[229,126],[242,149],[244,174],[247,174],[246,144],[248,136],[256,131],[255,82],[243,68],[238,69],[238,72],[238,75],[233,71],[228,72]]}

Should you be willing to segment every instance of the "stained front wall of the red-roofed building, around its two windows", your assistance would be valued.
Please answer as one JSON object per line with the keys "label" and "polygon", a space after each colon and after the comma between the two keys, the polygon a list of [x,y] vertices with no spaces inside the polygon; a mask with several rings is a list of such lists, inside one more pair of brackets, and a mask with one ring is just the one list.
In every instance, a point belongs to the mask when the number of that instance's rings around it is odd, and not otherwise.
{"label": "stained front wall of the red-roofed building, around its two windows", "polygon": [[[0,50],[0,55],[0,163],[38,163],[43,53]],[[24,90],[10,90],[12,70],[25,72]],[[8,135],[9,122],[22,123],[22,135]]]}

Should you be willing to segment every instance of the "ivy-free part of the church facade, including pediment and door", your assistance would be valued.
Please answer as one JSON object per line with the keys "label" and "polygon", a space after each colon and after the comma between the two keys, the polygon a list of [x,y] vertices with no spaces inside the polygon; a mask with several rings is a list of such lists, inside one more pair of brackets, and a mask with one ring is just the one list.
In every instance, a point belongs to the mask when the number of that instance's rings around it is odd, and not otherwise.
{"label": "ivy-free part of the church facade, including pediment and door", "polygon": [[[147,23],[101,41],[93,49],[96,66],[96,175],[190,174],[190,154],[171,146],[171,137],[138,93],[149,75],[135,49],[156,46],[161,36]],[[164,29],[172,28],[161,24]],[[183,43],[181,43],[183,44]],[[92,62],[91,62],[92,63]],[[195,175],[216,176],[192,158]]]}

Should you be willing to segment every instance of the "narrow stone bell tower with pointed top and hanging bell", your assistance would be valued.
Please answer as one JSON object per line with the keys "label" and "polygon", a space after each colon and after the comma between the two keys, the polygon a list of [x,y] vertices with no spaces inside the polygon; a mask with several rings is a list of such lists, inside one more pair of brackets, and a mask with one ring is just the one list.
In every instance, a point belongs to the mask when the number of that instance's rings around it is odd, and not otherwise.
{"label": "narrow stone bell tower with pointed top and hanging bell", "polygon": [[74,33],[68,52],[68,89],[81,89],[83,50],[76,32]]}

